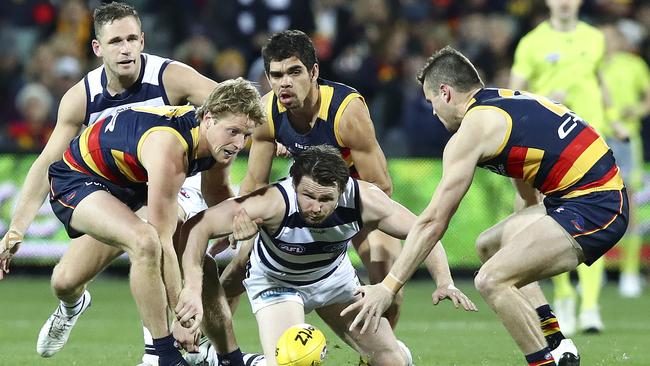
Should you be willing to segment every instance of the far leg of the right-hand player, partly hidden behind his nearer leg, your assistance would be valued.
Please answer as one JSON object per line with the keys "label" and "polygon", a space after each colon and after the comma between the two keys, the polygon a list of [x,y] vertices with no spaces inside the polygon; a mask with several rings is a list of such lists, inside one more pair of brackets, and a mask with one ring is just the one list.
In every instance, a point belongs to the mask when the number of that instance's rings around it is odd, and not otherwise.
{"label": "far leg of the right-hand player, partly hidden behind his nearer leg", "polygon": [[[487,262],[503,243],[512,242],[515,235],[546,215],[546,208],[543,204],[531,206],[511,214],[501,222],[482,232],[476,239],[476,251],[482,263]],[[557,277],[557,276],[556,276]],[[566,332],[558,324],[554,309],[546,300],[539,285],[534,282],[521,287],[519,291],[528,299],[530,304],[537,311],[540,327],[544,337],[551,349],[557,348],[564,339]]]}

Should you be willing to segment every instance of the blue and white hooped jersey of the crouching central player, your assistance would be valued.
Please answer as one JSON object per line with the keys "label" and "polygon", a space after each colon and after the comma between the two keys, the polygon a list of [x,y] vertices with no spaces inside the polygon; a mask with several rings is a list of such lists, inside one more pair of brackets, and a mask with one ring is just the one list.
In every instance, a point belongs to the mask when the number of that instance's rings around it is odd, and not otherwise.
{"label": "blue and white hooped jersey of the crouching central player", "polygon": [[318,225],[306,223],[300,215],[291,179],[274,186],[284,197],[285,217],[275,233],[260,229],[252,265],[296,286],[310,285],[331,275],[347,255],[350,240],[362,228],[359,184],[350,178],[334,212]]}

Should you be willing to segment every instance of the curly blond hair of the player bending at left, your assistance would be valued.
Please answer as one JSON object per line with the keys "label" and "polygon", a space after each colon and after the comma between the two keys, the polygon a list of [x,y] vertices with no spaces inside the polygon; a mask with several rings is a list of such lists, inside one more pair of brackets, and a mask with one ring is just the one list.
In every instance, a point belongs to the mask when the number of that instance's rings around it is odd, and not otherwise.
{"label": "curly blond hair of the player bending at left", "polygon": [[250,81],[243,78],[219,83],[196,110],[196,117],[200,121],[208,112],[215,119],[224,113],[241,114],[253,120],[255,125],[261,125],[265,119],[260,93]]}

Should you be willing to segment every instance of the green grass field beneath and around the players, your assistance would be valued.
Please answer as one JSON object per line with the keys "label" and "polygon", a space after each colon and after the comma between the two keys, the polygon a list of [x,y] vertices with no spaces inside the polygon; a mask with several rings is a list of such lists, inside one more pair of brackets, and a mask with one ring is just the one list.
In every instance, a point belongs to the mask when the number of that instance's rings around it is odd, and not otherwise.
{"label": "green grass field beneath and around the players", "polygon": [[[522,355],[498,319],[473,290],[461,287],[477,303],[478,313],[454,310],[445,302],[433,307],[431,284],[410,283],[397,335],[413,352],[418,366],[524,365]],[[545,286],[547,289],[548,286]],[[53,358],[35,351],[42,323],[56,305],[46,277],[9,277],[0,282],[0,365],[135,365],[142,353],[140,321],[124,278],[100,278],[90,286],[93,305],[77,323],[66,347]],[[650,365],[650,294],[621,299],[614,285],[602,294],[602,335],[574,337],[583,366]],[[329,354],[325,365],[355,365],[357,356],[323,323]],[[235,327],[243,350],[259,352],[257,326],[248,303],[242,302]]]}

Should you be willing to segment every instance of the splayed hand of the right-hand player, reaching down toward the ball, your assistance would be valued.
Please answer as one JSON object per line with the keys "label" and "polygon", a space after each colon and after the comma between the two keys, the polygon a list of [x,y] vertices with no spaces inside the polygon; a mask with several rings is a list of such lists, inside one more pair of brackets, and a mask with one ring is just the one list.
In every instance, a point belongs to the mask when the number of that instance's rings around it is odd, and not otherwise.
{"label": "splayed hand of the right-hand player, reaching down toward the ball", "polygon": [[375,333],[379,329],[381,316],[393,303],[395,294],[381,283],[361,286],[357,289],[355,295],[357,294],[360,294],[361,298],[343,309],[341,316],[357,312],[349,330],[361,325],[361,334],[368,330]]}

